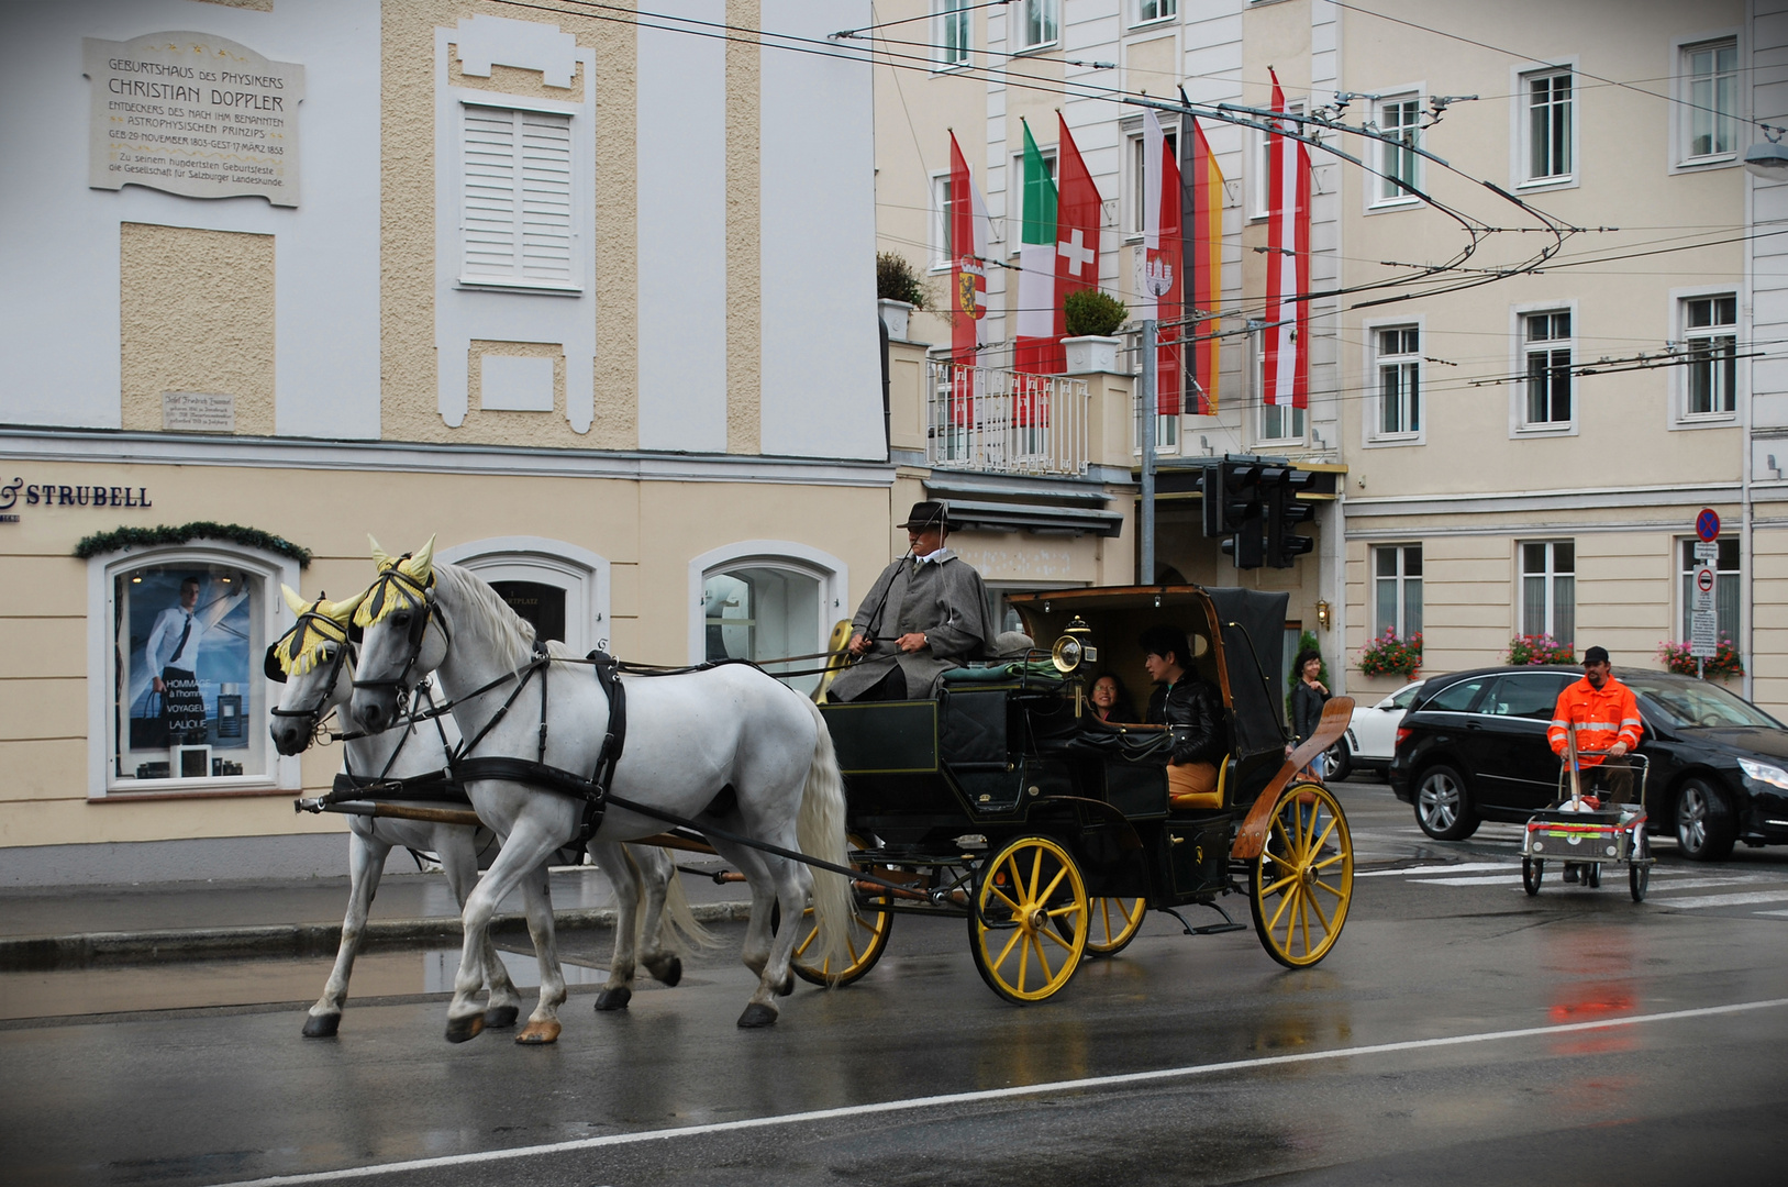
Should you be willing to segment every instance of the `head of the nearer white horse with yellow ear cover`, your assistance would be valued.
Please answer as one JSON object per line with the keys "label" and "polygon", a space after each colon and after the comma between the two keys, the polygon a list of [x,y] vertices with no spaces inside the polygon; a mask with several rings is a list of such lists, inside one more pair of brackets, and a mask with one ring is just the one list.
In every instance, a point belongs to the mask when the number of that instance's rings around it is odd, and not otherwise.
{"label": "head of the nearer white horse with yellow ear cover", "polygon": [[372,560],[379,576],[354,611],[354,626],[365,631],[354,678],[354,720],[377,733],[399,717],[402,694],[442,665],[447,642],[442,631],[429,631],[438,613],[434,538],[402,556],[390,556],[372,540]]}

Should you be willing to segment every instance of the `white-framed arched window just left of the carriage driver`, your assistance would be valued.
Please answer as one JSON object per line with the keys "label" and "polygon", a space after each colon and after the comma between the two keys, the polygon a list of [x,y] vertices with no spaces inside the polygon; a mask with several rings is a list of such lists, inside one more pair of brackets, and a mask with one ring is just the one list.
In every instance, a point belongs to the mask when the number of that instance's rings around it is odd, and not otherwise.
{"label": "white-framed arched window just left of the carriage driver", "polygon": [[[690,561],[690,663],[753,660],[758,663],[822,651],[831,627],[849,617],[844,595],[849,572],[835,556],[785,540],[749,540]],[[771,663],[769,672],[799,672],[817,660]],[[797,692],[812,692],[817,676],[790,676]]]}

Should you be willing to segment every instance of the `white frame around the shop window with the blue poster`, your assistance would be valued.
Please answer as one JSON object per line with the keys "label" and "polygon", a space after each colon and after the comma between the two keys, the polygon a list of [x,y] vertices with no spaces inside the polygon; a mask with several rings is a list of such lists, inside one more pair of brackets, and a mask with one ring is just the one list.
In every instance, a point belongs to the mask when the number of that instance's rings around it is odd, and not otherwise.
{"label": "white frame around the shop window with the blue poster", "polygon": [[[195,779],[154,779],[154,787],[138,788],[138,779],[114,776],[113,744],[118,731],[113,704],[114,654],[113,622],[116,613],[114,579],[129,570],[195,565],[220,565],[225,568],[252,574],[261,583],[261,647],[284,635],[297,620],[279,597],[279,586],[290,585],[299,590],[299,563],[288,556],[259,552],[222,542],[188,542],[181,545],[163,545],[147,549],[120,549],[88,560],[88,799],[89,801],[145,801],[145,799],[202,799],[218,796],[279,796],[302,787],[300,758],[297,754],[279,754],[272,742],[265,744],[266,765],[257,774],[240,776],[202,776]],[[261,656],[254,652],[250,640],[249,686],[259,690],[259,711],[254,710],[254,692],[250,692],[249,711],[243,729],[259,731],[266,738],[272,720],[268,710],[277,704],[277,695],[268,692],[268,683],[259,672]]]}

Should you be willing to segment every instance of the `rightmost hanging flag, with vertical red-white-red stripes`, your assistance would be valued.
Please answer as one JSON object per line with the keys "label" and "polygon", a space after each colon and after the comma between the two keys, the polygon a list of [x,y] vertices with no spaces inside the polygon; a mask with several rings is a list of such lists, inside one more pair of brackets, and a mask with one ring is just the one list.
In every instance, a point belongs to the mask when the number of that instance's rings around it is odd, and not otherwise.
{"label": "rightmost hanging flag, with vertical red-white-red stripes", "polygon": [[[1273,75],[1273,111],[1286,111],[1286,93]],[[1289,122],[1275,120],[1277,127]],[[1266,358],[1262,402],[1311,406],[1311,150],[1300,139],[1271,134],[1266,216]]]}

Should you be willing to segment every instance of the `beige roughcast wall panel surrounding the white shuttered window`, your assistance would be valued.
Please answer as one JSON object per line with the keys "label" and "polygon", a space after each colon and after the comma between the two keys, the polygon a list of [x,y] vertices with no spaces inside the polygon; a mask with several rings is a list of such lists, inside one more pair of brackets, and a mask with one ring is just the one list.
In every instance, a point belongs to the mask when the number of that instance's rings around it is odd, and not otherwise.
{"label": "beige roughcast wall panel surrounding the white shuttered window", "polygon": [[[579,46],[595,50],[599,163],[595,225],[586,229],[595,236],[595,282],[579,299],[590,304],[590,316],[595,318],[595,420],[588,434],[578,434],[565,420],[563,366],[554,374],[558,413],[481,415],[476,349],[467,420],[460,429],[442,420],[434,358],[434,29],[452,29],[463,18],[490,14],[490,9],[470,0],[384,0],[381,9],[383,436],[399,442],[637,449],[635,34],[629,23],[588,20],[574,11],[504,9],[501,16],[552,21]],[[583,88],[592,84],[576,77],[570,91],[549,88],[538,70],[501,64],[492,66],[490,79],[467,77],[452,55],[449,73],[452,86],[558,100],[581,97]],[[749,181],[755,195],[755,172]],[[522,349],[497,352],[529,354]],[[552,354],[561,356],[563,350],[554,347]]]}

